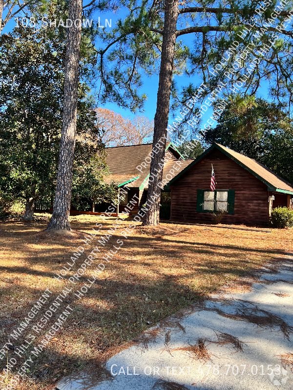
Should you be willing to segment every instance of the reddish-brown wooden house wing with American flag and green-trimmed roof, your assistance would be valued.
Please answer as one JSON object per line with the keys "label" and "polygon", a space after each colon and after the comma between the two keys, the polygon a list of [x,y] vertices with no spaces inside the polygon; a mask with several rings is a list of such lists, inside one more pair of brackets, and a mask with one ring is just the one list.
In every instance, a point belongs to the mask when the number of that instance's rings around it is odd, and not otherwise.
{"label": "reddish-brown wooden house wing with American flag and green-trimmed roof", "polygon": [[[212,166],[215,191],[210,190]],[[222,223],[262,225],[272,208],[292,209],[293,202],[291,184],[263,164],[216,143],[164,189],[171,190],[173,221],[213,223],[212,212],[222,210]]]}

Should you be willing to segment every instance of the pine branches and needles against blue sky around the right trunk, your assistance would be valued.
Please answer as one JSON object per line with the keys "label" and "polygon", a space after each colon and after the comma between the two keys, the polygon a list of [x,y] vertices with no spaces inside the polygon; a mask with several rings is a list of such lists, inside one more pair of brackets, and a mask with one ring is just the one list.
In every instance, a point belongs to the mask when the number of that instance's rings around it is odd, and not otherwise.
{"label": "pine branches and needles against blue sky around the right trunk", "polygon": [[[292,2],[287,1],[284,10],[291,10]],[[96,6],[103,10],[106,6],[104,3],[96,2]],[[111,30],[92,29],[100,38],[100,47],[97,47],[97,70],[101,81],[99,98],[102,103],[116,102],[135,112],[142,110],[146,101],[146,94],[140,92],[142,75],[158,75],[160,71],[164,1],[123,0],[109,1],[108,4],[108,9],[117,11],[119,8],[123,18]],[[221,94],[230,93],[236,81],[244,76],[247,81],[241,92],[245,96],[254,95],[262,86],[262,80],[269,79],[271,96],[290,108],[288,103],[293,101],[290,77],[293,73],[292,33],[288,28],[280,29],[286,15],[270,19],[275,6],[273,1],[266,6],[266,12],[259,13],[255,12],[259,7],[256,1],[230,0],[227,4],[203,0],[179,2],[180,11],[185,7],[191,8],[178,17],[179,37],[175,44],[172,72],[174,75],[185,74],[193,78],[192,83],[185,85],[182,90],[177,89],[176,82],[173,83],[171,108],[177,110],[185,104],[202,80],[207,85],[204,97],[217,88],[221,81],[225,85]],[[207,7],[211,11],[206,11]],[[225,12],[226,9],[229,11]],[[270,28],[267,28],[267,23]],[[248,29],[250,25],[254,27]],[[245,29],[250,31],[242,35]],[[279,38],[275,39],[274,34],[279,35]],[[184,35],[190,37],[188,43],[182,39]],[[229,51],[233,49],[231,44],[235,41],[239,41],[239,47]],[[275,45],[272,45],[273,41]],[[269,48],[267,52],[261,54],[262,49],[266,48]],[[235,66],[234,76],[228,78],[227,71],[238,62],[240,54],[244,56],[239,61],[239,67]],[[259,63],[249,69],[255,59]],[[222,68],[219,64],[222,64]],[[216,65],[216,72],[211,71]],[[183,122],[186,123],[197,109],[198,104],[195,104]]]}

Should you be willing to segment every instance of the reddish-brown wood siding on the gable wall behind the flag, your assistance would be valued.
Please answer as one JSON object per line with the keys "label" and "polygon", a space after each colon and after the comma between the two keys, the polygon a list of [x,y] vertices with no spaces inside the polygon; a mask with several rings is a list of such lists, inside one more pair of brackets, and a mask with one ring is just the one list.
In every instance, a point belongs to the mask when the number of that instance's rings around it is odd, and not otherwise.
{"label": "reddish-brown wood siding on the gable wall behind the flag", "polygon": [[197,190],[209,190],[211,164],[216,190],[235,190],[234,214],[225,215],[222,223],[261,225],[269,219],[268,187],[259,179],[214,149],[204,160],[171,185],[171,220],[213,223],[209,213],[196,212]]}

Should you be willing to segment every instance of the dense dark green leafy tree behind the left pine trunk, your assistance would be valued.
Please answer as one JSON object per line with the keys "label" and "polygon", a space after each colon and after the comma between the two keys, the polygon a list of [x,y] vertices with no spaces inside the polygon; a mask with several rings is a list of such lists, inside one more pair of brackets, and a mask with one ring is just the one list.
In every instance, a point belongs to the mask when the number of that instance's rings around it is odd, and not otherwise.
{"label": "dense dark green leafy tree behind the left pine trunk", "polygon": [[[0,191],[6,201],[25,199],[25,220],[33,219],[35,201],[50,198],[56,185],[63,42],[62,32],[21,26],[0,37]],[[89,195],[109,201],[115,187],[103,183],[102,174],[107,174],[104,146],[97,137],[95,113],[86,99],[88,91],[85,83],[79,84],[74,201]],[[85,134],[94,142],[85,142]]]}

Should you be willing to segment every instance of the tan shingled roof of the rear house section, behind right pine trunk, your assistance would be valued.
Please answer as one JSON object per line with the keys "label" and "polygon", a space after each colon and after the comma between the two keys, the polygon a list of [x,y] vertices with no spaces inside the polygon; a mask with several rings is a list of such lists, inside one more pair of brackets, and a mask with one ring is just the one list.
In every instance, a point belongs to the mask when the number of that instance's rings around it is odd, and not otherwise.
{"label": "tan shingled roof of the rear house section, behind right pine trunk", "polygon": [[[115,146],[112,148],[106,148],[107,156],[106,163],[109,166],[111,174],[105,177],[105,182],[110,183],[114,181],[118,184],[118,187],[122,187],[126,184],[131,184],[131,187],[139,187],[141,190],[148,187],[149,176],[149,162],[152,150],[152,144],[130,145],[130,146]],[[166,151],[169,151],[172,158],[183,159],[184,157],[176,149],[172,142],[167,143]],[[142,166],[148,157],[149,161],[146,163],[146,167]],[[169,169],[171,169],[172,161],[167,162],[164,166],[163,176],[167,176]],[[137,169],[137,167],[140,168]],[[180,168],[185,168],[185,165],[181,165]]]}

